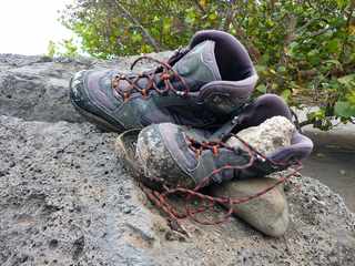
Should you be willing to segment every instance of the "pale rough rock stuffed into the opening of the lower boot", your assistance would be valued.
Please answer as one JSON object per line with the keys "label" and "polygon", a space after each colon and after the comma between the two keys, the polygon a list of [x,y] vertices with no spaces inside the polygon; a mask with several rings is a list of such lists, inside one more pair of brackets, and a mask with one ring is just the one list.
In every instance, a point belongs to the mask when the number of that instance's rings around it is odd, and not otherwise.
{"label": "pale rough rock stuffed into the opening of the lower boot", "polygon": [[[251,144],[262,154],[270,154],[277,149],[288,146],[295,126],[284,116],[271,117],[257,126],[251,126],[237,133],[237,136]],[[241,146],[236,137],[232,136],[227,142],[231,146]]]}

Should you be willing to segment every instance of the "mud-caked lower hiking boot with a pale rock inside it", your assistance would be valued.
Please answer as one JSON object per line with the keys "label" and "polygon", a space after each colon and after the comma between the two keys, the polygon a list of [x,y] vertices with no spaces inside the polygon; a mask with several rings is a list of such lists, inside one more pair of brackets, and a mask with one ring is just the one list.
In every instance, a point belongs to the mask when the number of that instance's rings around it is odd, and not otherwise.
{"label": "mud-caked lower hiking boot with a pale rock inside it", "polygon": [[[172,187],[195,188],[197,185],[203,187],[233,178],[264,176],[285,170],[296,160],[306,157],[313,149],[312,141],[295,130],[284,101],[272,94],[263,95],[250,104],[237,116],[233,133],[242,133],[252,126],[262,126],[272,119],[275,120],[274,125],[280,126],[274,130],[276,136],[267,140],[267,136],[263,136],[265,134],[263,130],[255,136],[255,139],[264,137],[265,142],[258,145],[264,146],[261,151],[268,151],[265,156],[255,153],[255,149],[251,149],[243,140],[241,140],[243,145],[231,145],[229,141],[213,137],[212,131],[172,123],[152,124],[140,133],[135,132],[136,143],[133,142],[134,134],[131,132],[131,152],[123,156],[129,155],[131,162],[135,161],[133,167],[140,168],[140,174],[144,176],[142,178],[145,178],[143,182],[148,185],[162,183]],[[284,126],[280,124],[282,119],[290,124],[287,125],[290,129],[285,126],[284,130],[287,131],[286,136],[283,136],[283,133],[277,136],[277,132],[282,132],[281,126]],[[274,125],[267,125],[266,131]],[[123,134],[118,141],[120,146],[118,152],[121,154],[126,151],[125,137]],[[281,137],[288,140],[283,141]],[[274,147],[270,149],[268,145]]]}

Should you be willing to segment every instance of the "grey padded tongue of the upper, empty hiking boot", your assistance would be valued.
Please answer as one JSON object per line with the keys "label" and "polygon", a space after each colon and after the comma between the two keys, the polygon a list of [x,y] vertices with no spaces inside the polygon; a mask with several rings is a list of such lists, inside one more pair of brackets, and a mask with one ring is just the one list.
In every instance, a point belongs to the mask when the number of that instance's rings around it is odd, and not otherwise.
{"label": "grey padded tongue of the upper, empty hiking boot", "polygon": [[191,91],[221,80],[214,45],[214,41],[201,42],[174,64],[173,69],[187,82]]}

